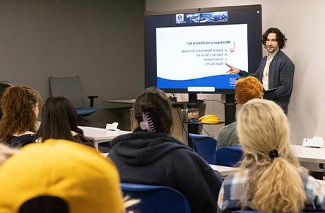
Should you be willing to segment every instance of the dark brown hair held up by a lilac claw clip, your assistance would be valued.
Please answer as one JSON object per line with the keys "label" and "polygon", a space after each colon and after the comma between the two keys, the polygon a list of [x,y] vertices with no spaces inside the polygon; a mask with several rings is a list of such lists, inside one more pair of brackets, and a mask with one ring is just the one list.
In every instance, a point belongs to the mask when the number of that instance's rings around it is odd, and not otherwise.
{"label": "dark brown hair held up by a lilac claw clip", "polygon": [[133,113],[138,127],[143,121],[143,114],[148,113],[155,131],[167,134],[172,131],[172,106],[165,93],[158,88],[146,88],[136,98]]}

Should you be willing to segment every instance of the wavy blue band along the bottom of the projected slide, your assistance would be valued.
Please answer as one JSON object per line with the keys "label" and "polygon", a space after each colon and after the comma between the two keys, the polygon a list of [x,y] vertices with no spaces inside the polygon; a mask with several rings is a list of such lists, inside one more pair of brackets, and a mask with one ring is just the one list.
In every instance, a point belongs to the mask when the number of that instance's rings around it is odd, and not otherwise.
{"label": "wavy blue band along the bottom of the projected slide", "polygon": [[199,79],[169,80],[157,77],[158,88],[188,88],[189,86],[207,86],[215,89],[234,89],[237,74],[208,76]]}

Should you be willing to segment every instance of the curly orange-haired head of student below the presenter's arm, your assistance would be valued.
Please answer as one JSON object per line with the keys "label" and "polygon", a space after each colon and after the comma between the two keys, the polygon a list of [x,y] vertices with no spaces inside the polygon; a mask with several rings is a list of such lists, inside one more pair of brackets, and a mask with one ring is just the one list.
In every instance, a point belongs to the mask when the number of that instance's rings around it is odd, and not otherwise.
{"label": "curly orange-haired head of student below the presenter's arm", "polygon": [[254,76],[240,78],[236,81],[235,93],[237,103],[244,104],[253,98],[261,98],[263,85]]}

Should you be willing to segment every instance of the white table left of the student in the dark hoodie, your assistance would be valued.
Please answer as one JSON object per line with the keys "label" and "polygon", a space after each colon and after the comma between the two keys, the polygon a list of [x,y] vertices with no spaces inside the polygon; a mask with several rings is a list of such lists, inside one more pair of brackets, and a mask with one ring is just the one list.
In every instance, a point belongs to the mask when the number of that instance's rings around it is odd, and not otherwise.
{"label": "white table left of the student in the dark hoodie", "polygon": [[97,127],[85,127],[85,126],[78,126],[79,128],[83,129],[83,134],[85,137],[91,137],[94,140],[95,149],[98,150],[98,144],[103,142],[110,142],[115,137],[122,135],[122,134],[129,134],[130,131],[123,131],[123,130],[107,130],[104,128],[97,128]]}

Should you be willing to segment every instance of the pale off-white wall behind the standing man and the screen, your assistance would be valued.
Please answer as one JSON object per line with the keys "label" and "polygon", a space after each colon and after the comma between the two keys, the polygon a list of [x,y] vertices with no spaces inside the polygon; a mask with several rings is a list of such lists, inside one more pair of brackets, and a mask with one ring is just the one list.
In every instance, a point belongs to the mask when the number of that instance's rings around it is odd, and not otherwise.
{"label": "pale off-white wall behind the standing man and the screen", "polygon": [[[325,35],[325,1],[149,0],[146,1],[146,11],[247,4],[262,5],[263,31],[270,27],[280,28],[288,38],[283,51],[295,63],[293,95],[288,113],[293,143],[301,144],[304,137],[325,137],[325,42],[322,40]],[[215,95],[214,98],[220,99],[220,96]],[[223,106],[209,102],[206,113],[223,117]],[[210,134],[216,135],[216,131],[218,127],[216,130],[208,128]]]}

